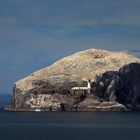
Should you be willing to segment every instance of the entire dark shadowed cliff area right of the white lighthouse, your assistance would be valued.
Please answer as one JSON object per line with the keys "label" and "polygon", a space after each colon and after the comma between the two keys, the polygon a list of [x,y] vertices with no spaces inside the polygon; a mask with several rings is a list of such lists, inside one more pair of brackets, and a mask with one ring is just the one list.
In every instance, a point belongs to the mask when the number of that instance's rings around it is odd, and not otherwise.
{"label": "entire dark shadowed cliff area right of the white lighthouse", "polygon": [[92,87],[105,101],[117,101],[127,108],[140,109],[140,64],[131,63],[118,72],[105,72],[97,77]]}

